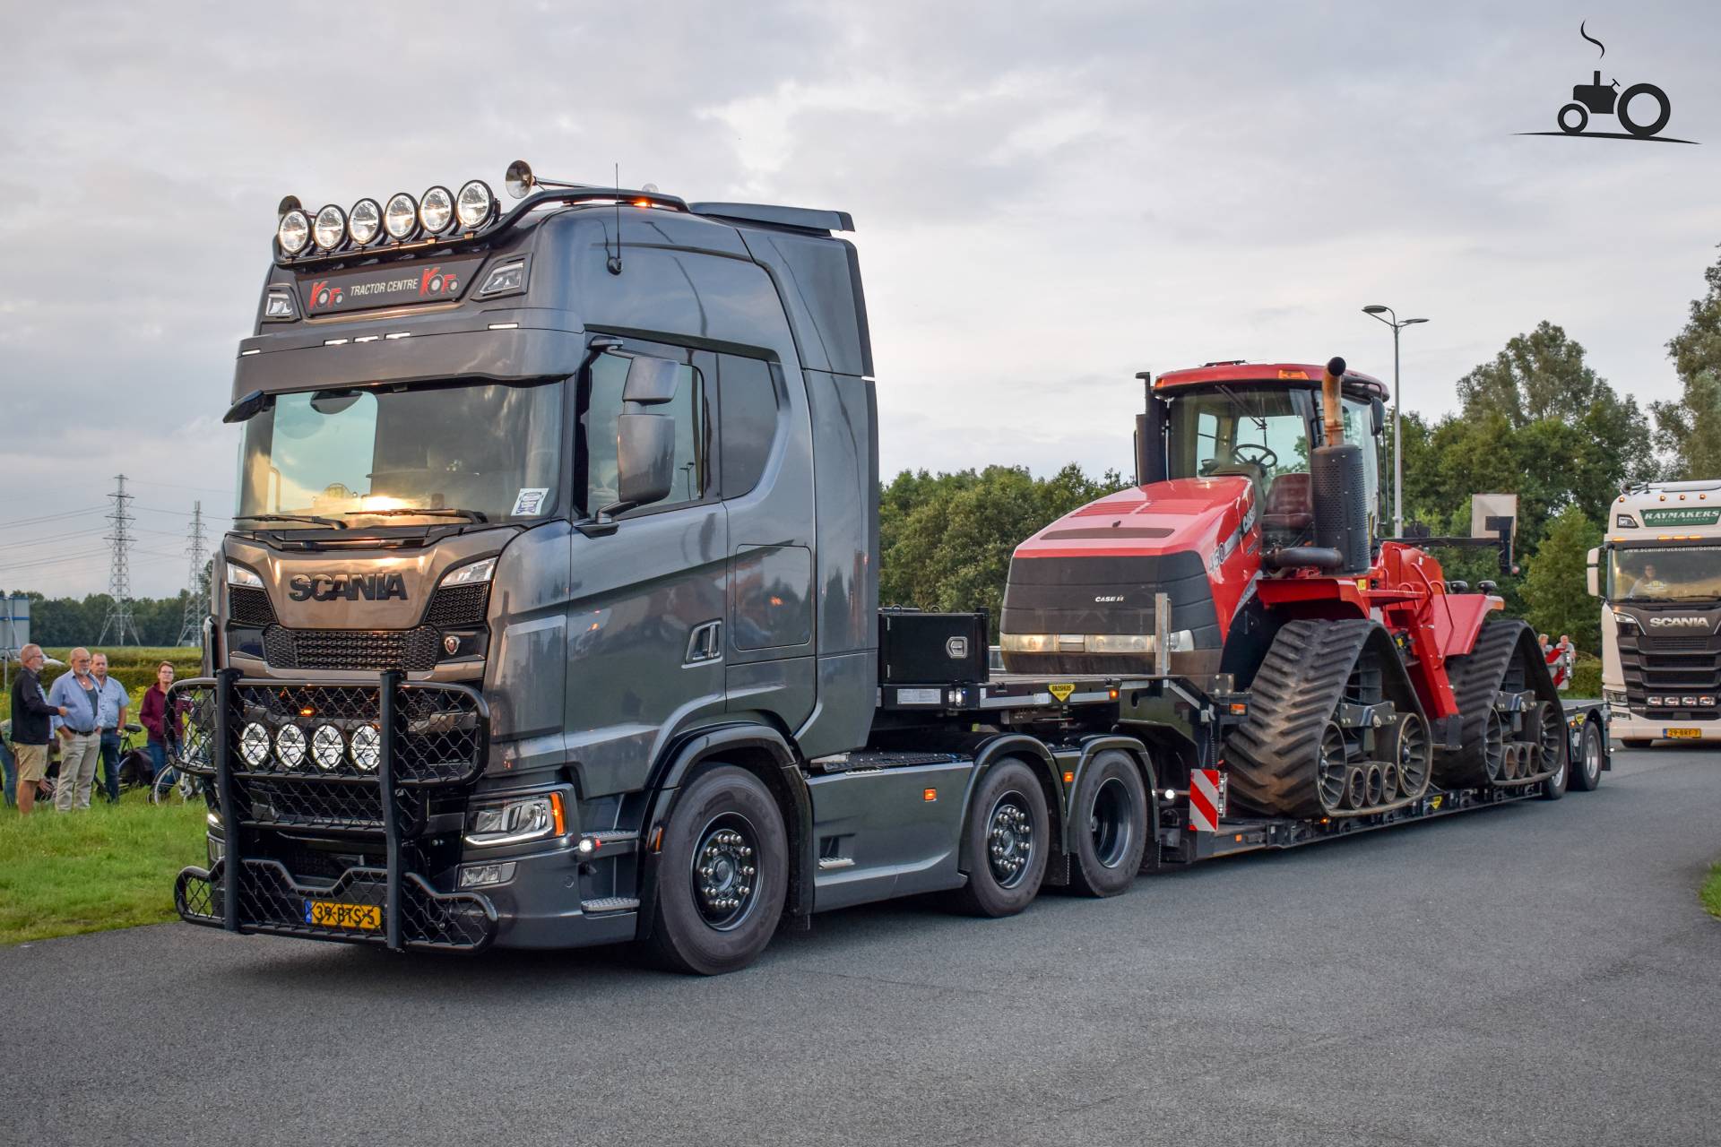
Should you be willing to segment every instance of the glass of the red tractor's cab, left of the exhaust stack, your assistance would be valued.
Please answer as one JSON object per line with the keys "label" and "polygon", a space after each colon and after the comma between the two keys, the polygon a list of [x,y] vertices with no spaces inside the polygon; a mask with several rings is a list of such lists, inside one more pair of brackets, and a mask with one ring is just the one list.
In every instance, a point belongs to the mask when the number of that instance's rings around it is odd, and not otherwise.
{"label": "glass of the red tractor's cab, left of the exhaust stack", "polygon": [[1213,387],[1174,397],[1169,473],[1248,478],[1268,538],[1294,543],[1315,523],[1308,478],[1313,411],[1310,392],[1289,387]]}

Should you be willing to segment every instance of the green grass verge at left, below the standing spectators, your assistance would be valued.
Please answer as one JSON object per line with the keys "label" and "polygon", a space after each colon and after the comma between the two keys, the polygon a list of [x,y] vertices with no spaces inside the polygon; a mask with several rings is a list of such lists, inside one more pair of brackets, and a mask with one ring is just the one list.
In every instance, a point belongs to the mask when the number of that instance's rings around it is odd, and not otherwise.
{"label": "green grass verge at left, below the standing spectators", "polygon": [[84,812],[0,805],[0,944],[129,929],[174,917],[174,877],[203,862],[203,801],[139,791]]}

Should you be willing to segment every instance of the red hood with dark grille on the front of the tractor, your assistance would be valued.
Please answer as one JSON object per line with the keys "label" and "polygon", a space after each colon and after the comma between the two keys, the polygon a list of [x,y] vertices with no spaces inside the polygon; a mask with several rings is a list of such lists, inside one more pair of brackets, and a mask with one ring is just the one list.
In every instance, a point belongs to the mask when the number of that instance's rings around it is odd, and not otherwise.
{"label": "red hood with dark grille on the front of the tractor", "polygon": [[1000,621],[1010,672],[1148,672],[1155,597],[1170,600],[1172,667],[1218,671],[1231,617],[1260,571],[1255,487],[1174,478],[1120,490],[1015,547]]}

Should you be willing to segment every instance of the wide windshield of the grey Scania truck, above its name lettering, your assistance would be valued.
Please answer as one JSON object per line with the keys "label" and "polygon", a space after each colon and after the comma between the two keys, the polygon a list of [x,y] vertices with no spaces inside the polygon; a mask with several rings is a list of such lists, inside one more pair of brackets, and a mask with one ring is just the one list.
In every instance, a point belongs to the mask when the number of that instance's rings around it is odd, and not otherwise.
{"label": "wide windshield of the grey Scania truck, above its name lettering", "polygon": [[244,425],[237,518],[542,518],[556,504],[561,409],[561,380],[277,396]]}

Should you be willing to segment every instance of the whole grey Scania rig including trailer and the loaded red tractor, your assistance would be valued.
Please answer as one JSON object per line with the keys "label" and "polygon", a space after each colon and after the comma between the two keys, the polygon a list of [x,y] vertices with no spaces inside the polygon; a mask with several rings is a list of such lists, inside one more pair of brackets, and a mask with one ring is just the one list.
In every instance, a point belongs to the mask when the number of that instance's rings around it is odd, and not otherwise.
{"label": "whole grey Scania rig including trailer and the loaded red tractor", "polygon": [[508,186],[282,203],[172,690],[182,918],[721,973],[816,911],[1007,917],[1607,767],[1487,586],[1373,538],[1342,361],[1150,380],[1141,485],[1022,543],[993,672],[984,612],[878,604],[850,218]]}

